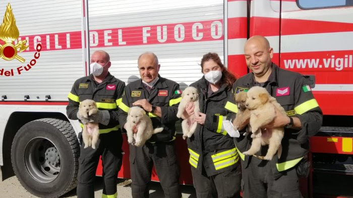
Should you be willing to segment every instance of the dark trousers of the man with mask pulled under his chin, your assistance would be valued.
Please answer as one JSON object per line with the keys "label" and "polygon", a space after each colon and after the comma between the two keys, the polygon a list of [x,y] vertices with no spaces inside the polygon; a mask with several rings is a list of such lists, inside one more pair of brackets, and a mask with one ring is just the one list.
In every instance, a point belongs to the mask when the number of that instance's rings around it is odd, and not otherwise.
{"label": "dark trousers of the man with mask pulled under his chin", "polygon": [[149,197],[152,167],[156,169],[165,197],[180,198],[179,167],[174,141],[146,142],[142,147],[130,145],[130,171],[132,197]]}

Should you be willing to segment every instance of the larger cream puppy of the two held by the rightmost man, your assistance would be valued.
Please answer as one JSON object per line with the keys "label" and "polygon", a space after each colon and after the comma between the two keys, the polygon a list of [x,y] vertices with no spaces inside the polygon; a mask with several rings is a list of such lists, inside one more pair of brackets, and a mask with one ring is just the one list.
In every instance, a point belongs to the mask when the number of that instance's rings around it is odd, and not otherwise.
{"label": "larger cream puppy of the two held by the rightmost man", "polygon": [[246,107],[250,110],[250,126],[252,134],[252,145],[244,152],[245,155],[254,155],[261,149],[261,145],[269,145],[264,159],[271,160],[277,152],[278,158],[282,153],[281,141],[284,135],[284,128],[267,129],[263,134],[261,128],[276,117],[275,108],[284,116],[286,113],[282,106],[277,103],[276,98],[272,97],[265,88],[254,86],[247,92]]}

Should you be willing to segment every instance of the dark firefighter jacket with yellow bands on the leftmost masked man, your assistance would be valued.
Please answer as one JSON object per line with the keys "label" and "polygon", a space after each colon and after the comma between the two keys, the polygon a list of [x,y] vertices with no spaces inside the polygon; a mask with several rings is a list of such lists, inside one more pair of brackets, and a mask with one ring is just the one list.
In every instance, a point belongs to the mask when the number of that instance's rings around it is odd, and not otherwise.
{"label": "dark firefighter jacket with yellow bands on the leftmost masked man", "polygon": [[[106,126],[99,124],[99,133],[118,131],[120,127],[117,118],[117,107],[121,104],[124,89],[125,82],[115,78],[110,73],[99,84],[94,81],[92,74],[79,78],[75,81],[68,95],[69,105],[66,107],[67,115],[72,120],[78,120],[76,114],[80,102],[90,99],[96,102],[99,110],[109,111],[109,123]],[[83,127],[82,124],[81,127]]]}

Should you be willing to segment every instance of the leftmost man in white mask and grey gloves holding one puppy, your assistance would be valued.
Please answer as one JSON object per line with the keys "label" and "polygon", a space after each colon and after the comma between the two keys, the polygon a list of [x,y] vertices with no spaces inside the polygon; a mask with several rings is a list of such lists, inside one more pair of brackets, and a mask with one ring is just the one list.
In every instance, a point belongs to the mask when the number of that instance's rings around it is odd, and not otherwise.
{"label": "leftmost man in white mask and grey gloves holding one puppy", "polygon": [[[94,197],[94,178],[99,156],[102,156],[103,166],[103,194],[102,197],[113,198],[117,196],[117,173],[122,165],[123,138],[117,118],[117,110],[122,101],[125,82],[116,79],[108,72],[110,67],[109,54],[105,51],[95,51],[91,56],[92,74],[75,81],[69,93],[67,115],[72,120],[81,123],[94,121],[99,123],[99,140],[96,149],[84,148],[80,137],[81,151],[79,158],[78,197]],[[96,115],[89,120],[79,113],[80,102],[90,99],[96,102],[99,109]],[[81,124],[81,127],[83,125]]]}

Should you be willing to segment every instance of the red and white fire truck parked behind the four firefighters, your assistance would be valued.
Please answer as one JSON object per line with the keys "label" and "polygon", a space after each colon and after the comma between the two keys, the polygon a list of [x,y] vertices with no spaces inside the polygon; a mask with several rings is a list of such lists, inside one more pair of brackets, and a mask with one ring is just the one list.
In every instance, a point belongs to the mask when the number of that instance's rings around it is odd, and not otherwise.
{"label": "red and white fire truck parked behind the four firefighters", "polygon": [[[3,179],[16,173],[37,196],[59,196],[76,186],[81,128],[67,118],[65,108],[73,82],[90,73],[92,51],[107,51],[110,72],[126,83],[138,79],[137,57],[152,51],[161,64],[160,75],[184,89],[202,76],[199,64],[207,52],[218,53],[237,77],[248,73],[244,43],[263,35],[274,49],[274,63],[312,76],[312,91],[324,113],[323,127],[310,139],[311,171],[301,181],[303,195],[353,195],[352,0],[10,4],[0,2]],[[181,136],[175,141],[180,182],[192,184],[186,142]],[[129,149],[124,142],[118,176],[129,178]],[[152,180],[158,180],[156,174]]]}

